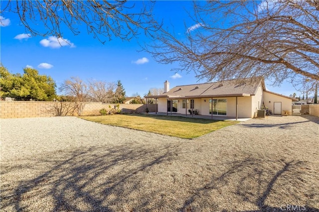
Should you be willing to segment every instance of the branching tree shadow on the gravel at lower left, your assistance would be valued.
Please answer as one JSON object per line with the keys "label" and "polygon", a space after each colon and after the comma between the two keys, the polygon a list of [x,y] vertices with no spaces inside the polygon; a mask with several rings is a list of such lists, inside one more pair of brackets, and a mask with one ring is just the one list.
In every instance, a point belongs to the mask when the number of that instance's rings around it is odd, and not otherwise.
{"label": "branching tree shadow on the gravel at lower left", "polygon": [[[143,147],[134,149],[122,145],[106,148],[104,154],[99,148],[92,147],[46,155],[37,163],[54,164],[51,169],[31,180],[19,182],[14,191],[2,186],[1,208],[14,206],[15,211],[122,211],[123,195],[134,192],[143,180],[139,179],[139,173],[148,172],[175,157],[168,149],[164,154],[158,154],[162,151],[165,147],[148,151]],[[67,159],[58,155],[67,155],[64,156]],[[20,167],[5,167],[5,173]],[[127,187],[131,181],[134,187]],[[51,208],[34,202],[41,199],[52,202]]]}

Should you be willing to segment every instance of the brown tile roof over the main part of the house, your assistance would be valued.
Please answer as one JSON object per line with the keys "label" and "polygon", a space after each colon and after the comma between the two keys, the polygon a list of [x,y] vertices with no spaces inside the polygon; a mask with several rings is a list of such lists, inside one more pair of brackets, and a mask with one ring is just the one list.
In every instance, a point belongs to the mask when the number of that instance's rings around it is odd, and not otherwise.
{"label": "brown tile roof over the main part of the house", "polygon": [[263,86],[263,89],[265,88],[262,77],[225,80],[214,83],[176,86],[158,97],[252,96],[257,93],[260,85]]}

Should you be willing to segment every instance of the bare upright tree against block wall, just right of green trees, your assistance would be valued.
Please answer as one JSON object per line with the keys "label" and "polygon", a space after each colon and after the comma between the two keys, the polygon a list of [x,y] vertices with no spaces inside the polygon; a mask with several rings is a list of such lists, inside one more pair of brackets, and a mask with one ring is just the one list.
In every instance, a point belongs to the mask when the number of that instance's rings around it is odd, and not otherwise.
{"label": "bare upright tree against block wall, just right of green trees", "polygon": [[60,91],[64,95],[74,98],[78,115],[82,115],[85,102],[88,101],[89,97],[86,83],[78,77],[71,77],[71,79],[64,81],[60,87]]}

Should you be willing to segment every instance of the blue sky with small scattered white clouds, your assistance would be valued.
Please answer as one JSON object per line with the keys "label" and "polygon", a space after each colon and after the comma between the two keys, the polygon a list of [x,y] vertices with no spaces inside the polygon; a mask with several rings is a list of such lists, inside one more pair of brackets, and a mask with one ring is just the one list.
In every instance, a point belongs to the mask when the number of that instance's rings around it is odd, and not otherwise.
{"label": "blue sky with small scattered white clouds", "polygon": [[[186,11],[191,9],[191,1],[159,1],[155,4],[154,14],[182,39],[187,30],[185,26],[189,30],[198,26],[188,17]],[[0,19],[0,60],[3,66],[11,73],[23,73],[24,67],[33,67],[40,74],[51,76],[57,88],[70,77],[106,82],[121,80],[128,96],[134,93],[144,96],[150,88],[162,88],[165,80],[170,82],[170,88],[206,82],[198,81],[194,73],[170,71],[177,63],[160,64],[147,52],[138,51],[141,50],[140,44],[152,42],[143,34],[130,41],[115,38],[102,44],[88,34],[85,27],[79,28],[79,35],[66,29],[63,30],[64,41],[60,40],[61,46],[55,37],[27,36],[14,13],[3,12]],[[289,83],[272,87],[266,82],[266,87],[287,96],[296,92]]]}

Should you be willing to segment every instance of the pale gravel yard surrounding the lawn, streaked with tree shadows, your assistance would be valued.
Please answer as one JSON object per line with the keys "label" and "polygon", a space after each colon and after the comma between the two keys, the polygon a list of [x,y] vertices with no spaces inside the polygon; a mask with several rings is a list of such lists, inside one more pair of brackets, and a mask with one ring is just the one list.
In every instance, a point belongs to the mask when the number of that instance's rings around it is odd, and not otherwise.
{"label": "pale gravel yard surrounding the lawn, streaked with tree shadows", "polygon": [[77,117],[0,126],[1,211],[319,211],[319,117],[193,140]]}

